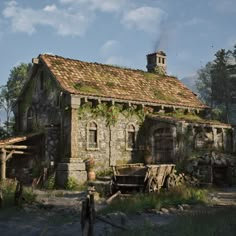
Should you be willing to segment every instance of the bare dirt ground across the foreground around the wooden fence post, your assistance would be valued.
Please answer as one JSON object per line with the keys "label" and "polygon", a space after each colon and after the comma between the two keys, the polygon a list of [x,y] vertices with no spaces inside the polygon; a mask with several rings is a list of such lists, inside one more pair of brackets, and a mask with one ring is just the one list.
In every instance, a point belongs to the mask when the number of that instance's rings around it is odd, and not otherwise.
{"label": "bare dirt ground across the foreground around the wooden fence post", "polygon": [[[81,200],[85,197],[84,192],[37,191],[37,196],[37,204],[0,211],[1,236],[81,235],[80,209]],[[236,188],[219,189],[212,193],[210,198],[217,206],[236,206]],[[102,200],[96,202],[96,208],[103,206]],[[199,209],[201,206],[195,208]],[[127,228],[147,223],[160,225],[168,224],[182,212],[194,211],[195,208],[183,206],[181,211],[164,209],[161,212],[150,211],[134,215],[116,212],[106,215],[105,218]],[[109,224],[96,220],[95,235],[110,235],[113,230],[114,227]]]}

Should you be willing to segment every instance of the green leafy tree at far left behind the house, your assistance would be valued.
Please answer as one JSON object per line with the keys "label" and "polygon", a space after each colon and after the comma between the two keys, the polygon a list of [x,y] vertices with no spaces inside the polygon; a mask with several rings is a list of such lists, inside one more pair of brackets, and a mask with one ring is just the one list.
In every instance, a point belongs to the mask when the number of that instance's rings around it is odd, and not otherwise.
{"label": "green leafy tree at far left behind the house", "polygon": [[26,80],[29,76],[31,64],[21,63],[19,66],[13,67],[7,84],[1,87],[0,90],[0,109],[6,112],[6,131],[10,131],[10,120],[14,102],[20,95]]}

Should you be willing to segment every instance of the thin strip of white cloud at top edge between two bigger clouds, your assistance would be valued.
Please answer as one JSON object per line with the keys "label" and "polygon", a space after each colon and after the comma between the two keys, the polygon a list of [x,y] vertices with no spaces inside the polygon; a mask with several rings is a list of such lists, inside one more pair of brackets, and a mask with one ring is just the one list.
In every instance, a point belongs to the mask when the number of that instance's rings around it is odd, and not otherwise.
{"label": "thin strip of white cloud at top edge between two bigger clouds", "polygon": [[128,4],[128,0],[60,0],[60,3],[84,5],[91,10],[103,12],[117,12]]}

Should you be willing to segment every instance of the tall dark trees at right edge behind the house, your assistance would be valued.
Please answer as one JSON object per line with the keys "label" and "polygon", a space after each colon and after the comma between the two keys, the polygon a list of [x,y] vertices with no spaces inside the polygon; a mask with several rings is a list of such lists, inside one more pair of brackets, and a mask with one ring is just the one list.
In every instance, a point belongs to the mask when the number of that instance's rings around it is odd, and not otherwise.
{"label": "tall dark trees at right edge behind the house", "polygon": [[213,62],[198,71],[196,82],[201,99],[213,111],[223,114],[222,121],[229,122],[232,97],[236,91],[236,45],[234,50],[221,49]]}

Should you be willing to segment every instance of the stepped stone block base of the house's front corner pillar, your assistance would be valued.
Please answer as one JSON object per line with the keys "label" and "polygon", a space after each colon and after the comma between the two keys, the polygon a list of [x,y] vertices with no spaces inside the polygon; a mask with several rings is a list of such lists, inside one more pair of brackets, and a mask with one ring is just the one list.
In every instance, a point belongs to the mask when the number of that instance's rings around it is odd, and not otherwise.
{"label": "stepped stone block base of the house's front corner pillar", "polygon": [[69,162],[58,163],[56,182],[60,187],[65,187],[69,178],[75,179],[79,184],[87,181],[85,163],[81,159],[72,158]]}

